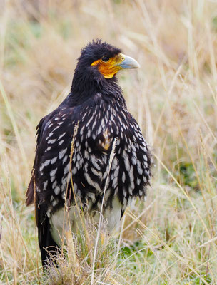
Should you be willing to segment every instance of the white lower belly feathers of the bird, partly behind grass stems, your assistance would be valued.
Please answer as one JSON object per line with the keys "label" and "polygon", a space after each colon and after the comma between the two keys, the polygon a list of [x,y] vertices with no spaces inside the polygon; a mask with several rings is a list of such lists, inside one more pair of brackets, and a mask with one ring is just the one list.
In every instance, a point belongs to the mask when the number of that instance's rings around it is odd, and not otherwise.
{"label": "white lower belly feathers of the bird, partly behind grass stems", "polygon": [[[89,204],[89,209],[91,209],[91,204]],[[118,197],[113,198],[112,208],[107,207],[104,209],[103,221],[106,224],[108,232],[112,232],[113,229],[118,229],[118,226],[121,221],[121,203],[119,202]],[[86,211],[84,217],[89,217],[91,222],[96,225],[99,222],[100,217],[100,208],[95,210]],[[51,227],[51,236],[58,244],[61,246],[63,243],[66,244],[66,232],[71,230],[71,232],[76,233],[77,229],[81,231],[84,230],[84,221],[80,216],[79,209],[76,206],[71,206],[69,211],[61,208],[51,215],[49,219]]]}

